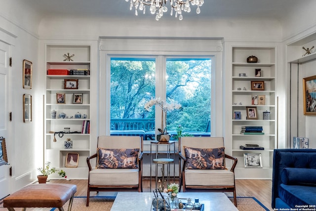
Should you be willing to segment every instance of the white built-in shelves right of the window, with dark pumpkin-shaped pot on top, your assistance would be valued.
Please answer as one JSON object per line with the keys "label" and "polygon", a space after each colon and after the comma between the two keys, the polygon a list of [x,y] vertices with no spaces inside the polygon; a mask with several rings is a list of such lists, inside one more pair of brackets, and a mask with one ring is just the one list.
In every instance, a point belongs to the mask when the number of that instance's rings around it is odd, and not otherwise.
{"label": "white built-in shelves right of the window, with dark pumpkin-shaped pot on top", "polygon": [[[247,63],[248,56],[258,58],[257,63]],[[276,47],[232,46],[232,154],[238,159],[236,178],[272,178],[273,150],[276,148]],[[261,76],[255,76],[255,69],[261,69]],[[246,76],[240,77],[239,74]],[[251,90],[251,82],[264,82],[264,90]],[[263,105],[253,105],[252,97],[264,95]],[[256,107],[257,119],[249,120],[246,107]],[[263,112],[270,112],[270,119],[264,120]],[[240,112],[240,119],[235,119]],[[240,134],[243,126],[263,127],[263,135]],[[240,145],[258,144],[264,150],[242,150]],[[262,168],[245,168],[244,153],[260,153]]]}

